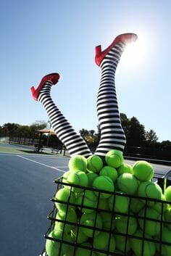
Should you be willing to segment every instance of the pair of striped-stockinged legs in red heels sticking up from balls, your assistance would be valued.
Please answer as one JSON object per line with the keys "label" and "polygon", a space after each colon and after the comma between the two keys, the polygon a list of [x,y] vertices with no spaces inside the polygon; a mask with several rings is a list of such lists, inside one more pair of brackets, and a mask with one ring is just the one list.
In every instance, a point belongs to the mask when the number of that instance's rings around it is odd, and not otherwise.
{"label": "pair of striped-stockinged legs in red heels sticking up from balls", "polygon": [[[95,62],[101,69],[101,80],[96,102],[101,139],[94,154],[99,155],[101,158],[111,149],[123,152],[126,144],[125,133],[120,122],[114,78],[117,64],[120,61],[125,46],[131,41],[135,41],[136,38],[135,34],[126,33],[117,36],[104,51],[101,51],[101,46],[96,46]],[[38,88],[31,88],[33,98],[43,104],[54,132],[64,146],[66,146],[70,156],[81,154],[89,157],[92,153],[86,141],[75,132],[72,125],[70,125],[51,99],[51,86],[56,84],[58,80],[58,73],[52,73],[43,77]]]}

